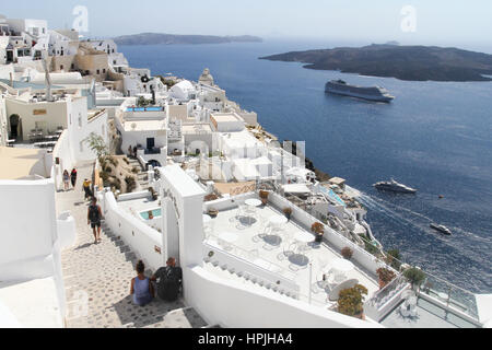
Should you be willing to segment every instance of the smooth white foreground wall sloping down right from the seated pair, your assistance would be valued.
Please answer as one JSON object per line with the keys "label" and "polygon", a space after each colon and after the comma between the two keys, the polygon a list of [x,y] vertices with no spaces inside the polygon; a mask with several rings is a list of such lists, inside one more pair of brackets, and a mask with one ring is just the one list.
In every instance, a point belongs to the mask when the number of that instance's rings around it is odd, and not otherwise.
{"label": "smooth white foreground wall sloping down right from the seated pair", "polygon": [[184,272],[187,302],[211,325],[225,328],[383,328],[268,290],[247,290],[199,266],[186,267]]}

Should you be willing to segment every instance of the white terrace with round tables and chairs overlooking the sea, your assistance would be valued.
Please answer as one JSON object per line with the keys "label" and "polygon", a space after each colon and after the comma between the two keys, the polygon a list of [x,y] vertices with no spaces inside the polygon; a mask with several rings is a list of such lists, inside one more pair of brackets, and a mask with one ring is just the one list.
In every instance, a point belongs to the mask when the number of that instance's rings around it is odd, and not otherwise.
{"label": "white terrace with round tables and chairs overlooking the sea", "polygon": [[256,195],[207,203],[219,214],[204,215],[204,260],[235,273],[212,271],[232,279],[237,275],[258,279],[273,291],[325,308],[335,308],[337,303],[329,296],[355,281],[367,288],[366,299],[379,290],[375,276],[356,260],[344,260],[326,240],[315,243],[311,225],[295,213],[288,221],[281,206],[247,206],[251,199],[254,203]]}

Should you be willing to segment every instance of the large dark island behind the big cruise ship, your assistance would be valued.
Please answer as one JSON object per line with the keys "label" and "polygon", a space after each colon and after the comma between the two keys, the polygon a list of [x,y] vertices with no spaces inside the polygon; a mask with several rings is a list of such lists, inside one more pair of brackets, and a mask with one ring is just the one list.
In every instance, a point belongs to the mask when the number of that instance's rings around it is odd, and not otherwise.
{"label": "large dark island behind the big cruise ship", "polygon": [[308,63],[304,66],[308,69],[408,81],[492,81],[491,77],[484,77],[492,75],[492,55],[458,48],[388,44],[292,51],[260,59],[303,62]]}

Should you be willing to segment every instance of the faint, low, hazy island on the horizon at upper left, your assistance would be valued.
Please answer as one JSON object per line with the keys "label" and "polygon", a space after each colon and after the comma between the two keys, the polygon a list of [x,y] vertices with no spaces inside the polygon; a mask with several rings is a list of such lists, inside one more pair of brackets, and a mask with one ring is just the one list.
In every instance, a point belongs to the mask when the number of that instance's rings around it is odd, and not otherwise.
{"label": "faint, low, hazy island on the horizon at upper left", "polygon": [[262,43],[262,38],[251,35],[214,36],[214,35],[176,35],[159,33],[141,33],[114,38],[118,45],[183,45],[183,44],[227,44],[227,43]]}

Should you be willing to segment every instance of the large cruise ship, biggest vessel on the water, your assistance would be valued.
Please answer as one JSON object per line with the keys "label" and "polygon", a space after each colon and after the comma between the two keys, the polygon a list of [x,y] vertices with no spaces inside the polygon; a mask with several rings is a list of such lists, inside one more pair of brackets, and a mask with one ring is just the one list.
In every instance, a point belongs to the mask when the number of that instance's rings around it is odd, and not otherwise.
{"label": "large cruise ship, biggest vessel on the water", "polygon": [[325,92],[377,102],[391,102],[395,100],[395,96],[391,96],[384,88],[349,85],[343,80],[327,82]]}

